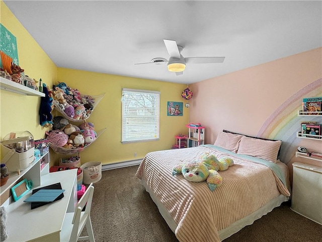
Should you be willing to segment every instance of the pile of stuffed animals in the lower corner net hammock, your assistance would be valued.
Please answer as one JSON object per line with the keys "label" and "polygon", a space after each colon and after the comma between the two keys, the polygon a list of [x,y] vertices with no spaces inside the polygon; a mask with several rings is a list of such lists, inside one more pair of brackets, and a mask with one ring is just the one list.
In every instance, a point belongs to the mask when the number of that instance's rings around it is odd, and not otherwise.
{"label": "pile of stuffed animals in the lower corner net hammock", "polygon": [[65,149],[83,148],[97,138],[93,123],[84,122],[78,127],[69,124],[62,116],[53,118],[53,130],[46,132],[46,135],[52,145]]}

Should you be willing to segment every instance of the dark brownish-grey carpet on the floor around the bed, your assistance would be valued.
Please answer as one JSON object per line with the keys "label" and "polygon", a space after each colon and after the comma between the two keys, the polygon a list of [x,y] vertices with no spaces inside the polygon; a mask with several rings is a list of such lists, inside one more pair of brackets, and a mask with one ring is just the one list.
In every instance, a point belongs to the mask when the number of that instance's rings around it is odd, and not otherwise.
{"label": "dark brownish-grey carpet on the floor around the bed", "polygon": [[[135,176],[137,167],[103,171],[94,184],[91,218],[96,241],[178,242]],[[223,241],[322,242],[322,225],[293,212],[286,202]]]}

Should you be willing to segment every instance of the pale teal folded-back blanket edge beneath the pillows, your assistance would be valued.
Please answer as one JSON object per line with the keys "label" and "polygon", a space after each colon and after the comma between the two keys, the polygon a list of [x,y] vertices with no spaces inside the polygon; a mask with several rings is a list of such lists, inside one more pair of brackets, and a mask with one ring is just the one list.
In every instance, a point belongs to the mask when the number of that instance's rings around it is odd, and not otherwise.
{"label": "pale teal folded-back blanket edge beneath the pillows", "polygon": [[254,157],[254,156],[250,156],[250,155],[237,154],[237,153],[231,152],[229,150],[225,150],[225,149],[223,149],[223,148],[221,148],[219,146],[215,146],[215,145],[200,145],[200,146],[215,149],[215,150],[221,151],[221,152],[226,153],[226,154],[230,154],[230,155],[233,155],[233,156],[236,156],[236,157],[239,157],[239,158],[243,158],[243,159],[255,162],[255,163],[265,165],[265,166],[269,167],[271,170],[273,170],[273,172],[278,176],[278,178],[280,178],[280,180],[282,181],[284,186],[286,186],[284,173],[282,172],[281,168],[277,164],[272,162],[272,161],[268,161],[268,160],[261,159],[261,158],[258,158],[258,157]]}

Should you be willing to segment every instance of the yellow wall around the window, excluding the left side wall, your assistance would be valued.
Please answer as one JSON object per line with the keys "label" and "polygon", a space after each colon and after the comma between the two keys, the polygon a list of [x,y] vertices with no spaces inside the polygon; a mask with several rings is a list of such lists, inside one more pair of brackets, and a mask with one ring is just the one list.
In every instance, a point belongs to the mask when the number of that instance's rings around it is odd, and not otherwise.
{"label": "yellow wall around the window, excluding the left side wall", "polygon": [[[170,149],[174,136],[187,133],[189,109],[184,107],[183,116],[167,116],[168,101],[183,102],[182,91],[186,85],[58,68],[58,80],[82,94],[101,95],[104,98],[95,108],[88,122],[97,132],[106,131],[81,153],[81,161],[115,163],[144,157],[148,152]],[[121,91],[122,88],[160,91],[160,139],[158,141],[121,144]],[[137,157],[134,157],[137,153]]]}

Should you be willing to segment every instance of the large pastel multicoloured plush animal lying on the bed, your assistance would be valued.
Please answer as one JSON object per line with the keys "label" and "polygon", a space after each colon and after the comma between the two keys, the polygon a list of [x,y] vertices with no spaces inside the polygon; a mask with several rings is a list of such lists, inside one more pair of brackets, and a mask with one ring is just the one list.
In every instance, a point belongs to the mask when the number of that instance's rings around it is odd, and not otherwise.
{"label": "large pastel multicoloured plush animal lying on the bed", "polygon": [[222,177],[217,171],[226,170],[231,165],[231,158],[218,160],[216,156],[205,153],[200,158],[175,166],[172,175],[183,174],[185,179],[194,183],[207,180],[208,188],[213,191],[222,184]]}

